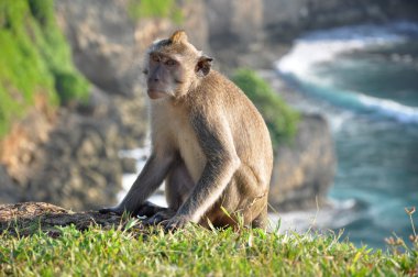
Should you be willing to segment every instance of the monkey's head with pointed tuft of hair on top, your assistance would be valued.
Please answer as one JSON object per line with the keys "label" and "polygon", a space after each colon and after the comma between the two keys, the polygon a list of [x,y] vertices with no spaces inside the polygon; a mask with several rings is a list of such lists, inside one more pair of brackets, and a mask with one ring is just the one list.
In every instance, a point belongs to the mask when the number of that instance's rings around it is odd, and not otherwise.
{"label": "monkey's head with pointed tuft of hair on top", "polygon": [[147,93],[151,99],[178,98],[209,74],[212,58],[197,51],[184,31],[153,43],[145,57]]}

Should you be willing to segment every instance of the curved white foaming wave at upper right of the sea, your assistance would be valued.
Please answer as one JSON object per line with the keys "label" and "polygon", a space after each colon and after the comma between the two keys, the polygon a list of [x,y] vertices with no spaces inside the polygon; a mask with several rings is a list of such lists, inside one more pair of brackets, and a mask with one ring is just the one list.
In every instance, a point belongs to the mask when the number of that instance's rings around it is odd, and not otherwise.
{"label": "curved white foaming wave at upper right of the sea", "polygon": [[342,53],[374,46],[404,43],[418,35],[418,24],[397,22],[386,25],[360,25],[312,32],[295,42],[292,51],[275,66],[277,71],[302,90],[349,109],[376,112],[403,123],[418,123],[418,108],[394,100],[367,96],[363,91],[342,90],[332,77],[315,75],[318,64],[332,62]]}

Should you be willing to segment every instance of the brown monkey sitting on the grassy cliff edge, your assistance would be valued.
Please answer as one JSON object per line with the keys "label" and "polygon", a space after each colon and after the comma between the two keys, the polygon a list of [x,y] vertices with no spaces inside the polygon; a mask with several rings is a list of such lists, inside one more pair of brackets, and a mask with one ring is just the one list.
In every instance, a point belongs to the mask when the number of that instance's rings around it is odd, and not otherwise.
{"label": "brown monkey sitting on the grassy cliff edge", "polygon": [[[185,31],[145,55],[152,153],[124,199],[101,213],[145,215],[175,230],[265,228],[273,149],[266,124],[244,92],[212,69]],[[146,199],[165,180],[167,208]]]}

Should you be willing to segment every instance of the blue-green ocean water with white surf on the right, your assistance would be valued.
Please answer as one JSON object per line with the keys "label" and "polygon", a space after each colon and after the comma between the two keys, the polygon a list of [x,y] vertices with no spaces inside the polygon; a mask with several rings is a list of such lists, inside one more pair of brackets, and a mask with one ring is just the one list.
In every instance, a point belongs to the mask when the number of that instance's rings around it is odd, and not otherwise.
{"label": "blue-green ocean water with white surf on the right", "polygon": [[393,235],[407,240],[405,208],[418,208],[418,24],[314,32],[295,41],[276,68],[302,93],[299,109],[331,124],[336,209],[317,212],[320,228],[343,229],[372,247]]}

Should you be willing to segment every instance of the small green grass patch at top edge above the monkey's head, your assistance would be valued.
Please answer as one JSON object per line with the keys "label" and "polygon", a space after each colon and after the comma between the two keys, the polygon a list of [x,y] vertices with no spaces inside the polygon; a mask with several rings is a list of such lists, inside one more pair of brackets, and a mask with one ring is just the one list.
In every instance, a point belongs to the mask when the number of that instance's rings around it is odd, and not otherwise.
{"label": "small green grass patch at top edge above the monkey's head", "polygon": [[130,0],[128,13],[131,19],[169,19],[182,24],[184,14],[176,0]]}

